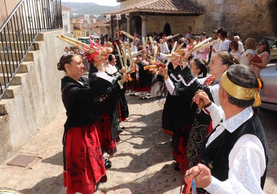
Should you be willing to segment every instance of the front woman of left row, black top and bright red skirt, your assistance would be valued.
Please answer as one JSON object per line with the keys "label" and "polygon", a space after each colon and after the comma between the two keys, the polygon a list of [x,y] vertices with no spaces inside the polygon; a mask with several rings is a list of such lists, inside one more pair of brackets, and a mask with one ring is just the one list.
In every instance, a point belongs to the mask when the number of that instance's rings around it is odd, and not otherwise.
{"label": "front woman of left row, black top and bright red skirt", "polygon": [[[99,183],[107,182],[94,124],[98,113],[92,109],[95,84],[82,77],[84,66],[75,54],[63,55],[57,68],[66,73],[61,80],[62,100],[67,115],[63,135],[64,186],[67,187],[67,194],[92,194]],[[126,77],[121,81],[124,82]]]}

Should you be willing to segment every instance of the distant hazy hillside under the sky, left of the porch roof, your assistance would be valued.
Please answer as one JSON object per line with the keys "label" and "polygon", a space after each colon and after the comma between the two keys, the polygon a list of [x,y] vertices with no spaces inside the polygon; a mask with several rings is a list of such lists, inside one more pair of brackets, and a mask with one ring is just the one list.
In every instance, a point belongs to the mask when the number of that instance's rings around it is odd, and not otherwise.
{"label": "distant hazy hillside under the sky, left of the porch roof", "polygon": [[[79,18],[84,16],[84,14],[89,14],[89,16],[100,15],[98,18],[101,19],[103,16],[102,13],[113,11],[119,9],[119,5],[117,6],[103,6],[98,5],[93,2],[83,3],[83,2],[63,2],[62,6],[70,8],[69,14],[72,18]],[[77,13],[78,15],[73,16],[73,13]]]}

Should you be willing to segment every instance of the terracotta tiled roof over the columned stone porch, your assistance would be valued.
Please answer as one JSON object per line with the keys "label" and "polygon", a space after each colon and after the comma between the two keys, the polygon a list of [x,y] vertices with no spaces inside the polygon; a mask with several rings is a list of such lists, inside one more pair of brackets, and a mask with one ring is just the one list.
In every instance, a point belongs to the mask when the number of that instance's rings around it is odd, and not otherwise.
{"label": "terracotta tiled roof over the columned stone porch", "polygon": [[205,12],[190,0],[141,0],[117,10],[102,13],[116,15],[143,12],[146,14],[199,15]]}

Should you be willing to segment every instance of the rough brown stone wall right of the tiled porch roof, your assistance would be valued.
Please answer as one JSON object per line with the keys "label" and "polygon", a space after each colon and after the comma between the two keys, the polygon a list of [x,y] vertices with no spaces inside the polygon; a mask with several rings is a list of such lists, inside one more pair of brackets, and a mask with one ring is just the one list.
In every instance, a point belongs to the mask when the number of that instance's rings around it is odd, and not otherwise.
{"label": "rough brown stone wall right of the tiled porch roof", "polygon": [[[243,41],[249,37],[258,40],[277,36],[276,0],[195,0],[195,3],[206,10],[197,24],[209,36],[218,27],[224,27],[230,35],[237,32]],[[193,33],[198,28],[193,27]]]}

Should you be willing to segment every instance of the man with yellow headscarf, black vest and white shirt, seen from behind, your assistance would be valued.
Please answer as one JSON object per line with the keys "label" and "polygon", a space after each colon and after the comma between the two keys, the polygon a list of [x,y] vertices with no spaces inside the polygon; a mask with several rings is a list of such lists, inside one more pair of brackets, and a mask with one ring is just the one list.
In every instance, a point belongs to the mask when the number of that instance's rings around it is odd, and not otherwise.
{"label": "man with yellow headscarf, black vest and white shirt, seen from behind", "polygon": [[219,84],[221,107],[204,92],[195,98],[196,103],[203,100],[214,129],[203,144],[201,163],[187,170],[184,179],[193,179],[197,188],[210,194],[263,194],[268,145],[252,108],[261,104],[261,82],[250,68],[233,65]]}

